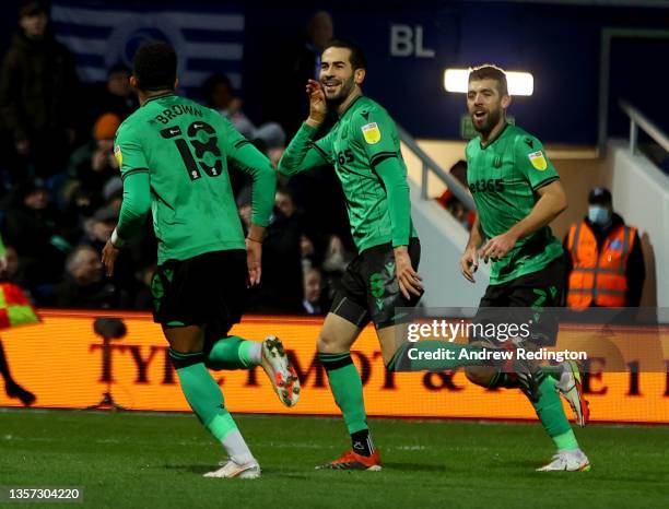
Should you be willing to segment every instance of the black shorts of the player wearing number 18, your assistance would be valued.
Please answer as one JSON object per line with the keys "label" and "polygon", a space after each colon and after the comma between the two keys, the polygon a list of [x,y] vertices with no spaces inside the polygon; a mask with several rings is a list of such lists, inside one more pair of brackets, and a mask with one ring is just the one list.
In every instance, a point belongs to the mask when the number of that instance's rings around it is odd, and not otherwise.
{"label": "black shorts of the player wearing number 18", "polygon": [[238,323],[247,296],[246,251],[212,251],[168,260],[151,281],[153,321],[167,327],[202,325],[224,338]]}

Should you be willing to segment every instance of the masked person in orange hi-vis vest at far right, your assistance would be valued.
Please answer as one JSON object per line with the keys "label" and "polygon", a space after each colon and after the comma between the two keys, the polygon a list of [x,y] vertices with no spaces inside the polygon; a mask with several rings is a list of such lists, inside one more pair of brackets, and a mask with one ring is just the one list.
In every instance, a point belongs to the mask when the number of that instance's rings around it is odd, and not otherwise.
{"label": "masked person in orange hi-vis vest at far right", "polygon": [[571,261],[567,306],[636,307],[646,270],[637,229],[613,212],[611,192],[596,187],[588,196],[588,215],[573,224],[564,247]]}

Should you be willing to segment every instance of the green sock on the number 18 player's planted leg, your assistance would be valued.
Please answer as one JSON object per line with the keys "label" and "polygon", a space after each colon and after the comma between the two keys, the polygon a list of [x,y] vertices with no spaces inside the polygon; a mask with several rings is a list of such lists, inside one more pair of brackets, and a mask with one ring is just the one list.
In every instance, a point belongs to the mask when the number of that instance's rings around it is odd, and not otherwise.
{"label": "green sock on the number 18 player's planted leg", "polygon": [[183,354],[169,348],[169,357],[193,413],[219,441],[223,441],[237,425],[224,406],[221,388],[202,362],[202,353]]}

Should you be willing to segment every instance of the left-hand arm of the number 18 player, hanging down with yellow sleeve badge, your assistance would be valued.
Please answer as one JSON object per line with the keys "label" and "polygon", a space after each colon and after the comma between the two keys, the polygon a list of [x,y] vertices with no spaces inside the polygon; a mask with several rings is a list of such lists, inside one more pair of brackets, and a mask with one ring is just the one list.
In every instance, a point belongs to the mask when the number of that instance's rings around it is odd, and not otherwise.
{"label": "left-hand arm of the number 18 player, hanging down with yellow sleeve badge", "polygon": [[129,129],[121,125],[114,146],[114,154],[124,180],[124,201],[118,224],[103,249],[103,263],[107,275],[114,273],[114,264],[120,248],[127,238],[142,227],[151,209],[149,165],[141,150],[139,135],[128,131]]}

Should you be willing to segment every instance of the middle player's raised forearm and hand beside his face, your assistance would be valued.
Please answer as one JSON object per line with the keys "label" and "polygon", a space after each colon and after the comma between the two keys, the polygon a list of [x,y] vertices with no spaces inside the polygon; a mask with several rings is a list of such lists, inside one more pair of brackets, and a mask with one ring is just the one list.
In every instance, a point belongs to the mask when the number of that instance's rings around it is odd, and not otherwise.
{"label": "middle player's raised forearm and hand beside his face", "polygon": [[309,97],[309,117],[295,133],[279,161],[279,173],[289,177],[331,163],[330,137],[326,135],[314,141],[327,114],[322,87],[317,81],[309,80],[306,92]]}

